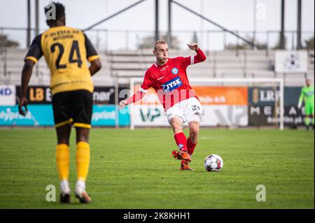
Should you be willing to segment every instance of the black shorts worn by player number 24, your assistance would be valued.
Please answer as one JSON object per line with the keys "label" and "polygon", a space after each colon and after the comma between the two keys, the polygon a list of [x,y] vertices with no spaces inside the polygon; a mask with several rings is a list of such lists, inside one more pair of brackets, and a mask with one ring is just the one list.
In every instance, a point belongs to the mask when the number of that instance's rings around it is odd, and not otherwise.
{"label": "black shorts worn by player number 24", "polygon": [[91,128],[92,93],[87,90],[60,92],[53,95],[52,109],[56,128],[65,124]]}

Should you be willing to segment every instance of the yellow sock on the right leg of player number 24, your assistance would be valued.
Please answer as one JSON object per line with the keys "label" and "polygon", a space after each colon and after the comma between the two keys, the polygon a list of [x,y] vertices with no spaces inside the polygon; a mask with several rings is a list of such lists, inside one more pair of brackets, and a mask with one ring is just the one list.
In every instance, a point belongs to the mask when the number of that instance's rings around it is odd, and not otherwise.
{"label": "yellow sock on the right leg of player number 24", "polygon": [[90,166],[90,145],[86,142],[76,144],[76,173],[78,180],[85,181]]}

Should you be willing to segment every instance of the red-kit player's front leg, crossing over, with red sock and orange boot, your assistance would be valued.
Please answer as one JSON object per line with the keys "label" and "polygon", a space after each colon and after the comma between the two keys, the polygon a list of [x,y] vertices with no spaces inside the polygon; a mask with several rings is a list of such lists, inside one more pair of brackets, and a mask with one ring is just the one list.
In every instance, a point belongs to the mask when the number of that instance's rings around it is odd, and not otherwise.
{"label": "red-kit player's front leg, crossing over, with red sock and orange boot", "polygon": [[182,121],[179,117],[172,117],[169,120],[169,124],[171,124],[174,132],[174,139],[179,150],[174,150],[172,152],[175,159],[181,159],[190,162],[190,155],[187,150],[187,139],[185,134],[183,133]]}

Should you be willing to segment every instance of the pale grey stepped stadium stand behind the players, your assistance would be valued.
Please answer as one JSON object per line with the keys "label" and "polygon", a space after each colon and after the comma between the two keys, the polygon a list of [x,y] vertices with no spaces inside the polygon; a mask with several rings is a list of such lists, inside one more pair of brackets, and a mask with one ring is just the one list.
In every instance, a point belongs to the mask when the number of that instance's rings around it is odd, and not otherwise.
{"label": "pale grey stepped stadium stand behind the players", "polygon": [[[26,50],[5,48],[0,53],[0,83],[20,85],[20,73]],[[129,83],[129,78],[143,77],[144,72],[155,62],[152,50],[116,50],[99,52],[103,69],[93,77],[96,86],[112,86]],[[303,86],[304,78],[314,82],[314,51],[309,52],[307,73],[275,73],[274,51],[225,50],[207,53],[205,63],[188,68],[188,75],[194,78],[284,78],[288,87]],[[170,50],[169,57],[194,55],[188,50]],[[49,85],[50,74],[41,59],[34,68],[30,85]]]}

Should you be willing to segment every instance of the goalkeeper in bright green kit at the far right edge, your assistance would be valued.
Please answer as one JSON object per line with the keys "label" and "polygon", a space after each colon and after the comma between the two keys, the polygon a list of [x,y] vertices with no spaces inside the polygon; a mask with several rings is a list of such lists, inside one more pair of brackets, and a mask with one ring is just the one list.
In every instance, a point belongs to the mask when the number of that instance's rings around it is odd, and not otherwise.
{"label": "goalkeeper in bright green kit at the far right edge", "polygon": [[306,86],[302,88],[297,108],[302,108],[302,102],[304,99],[306,115],[304,122],[307,130],[309,130],[310,122],[314,129],[314,86],[311,86],[311,80],[309,79],[307,79],[305,83]]}

